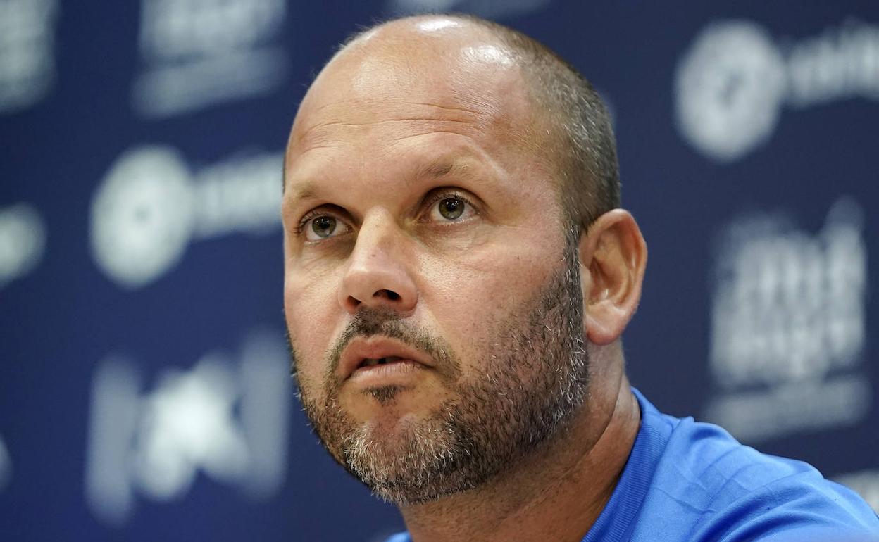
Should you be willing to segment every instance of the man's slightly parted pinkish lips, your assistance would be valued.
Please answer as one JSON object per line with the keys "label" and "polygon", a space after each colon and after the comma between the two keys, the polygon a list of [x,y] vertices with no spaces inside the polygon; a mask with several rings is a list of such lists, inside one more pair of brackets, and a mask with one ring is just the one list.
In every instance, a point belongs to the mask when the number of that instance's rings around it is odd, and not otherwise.
{"label": "man's slightly parted pinkish lips", "polygon": [[[382,365],[423,365],[432,367],[430,356],[396,339],[383,336],[355,338],[345,347],[337,374],[349,379],[354,372],[368,372]],[[389,367],[388,367],[389,368]]]}

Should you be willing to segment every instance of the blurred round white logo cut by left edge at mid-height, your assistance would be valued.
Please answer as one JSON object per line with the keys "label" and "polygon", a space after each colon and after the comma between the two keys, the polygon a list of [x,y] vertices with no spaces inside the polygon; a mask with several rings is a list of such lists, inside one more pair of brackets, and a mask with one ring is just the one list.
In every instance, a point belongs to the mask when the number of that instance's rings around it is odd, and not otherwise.
{"label": "blurred round white logo cut by left edge at mid-height", "polygon": [[33,206],[0,209],[0,287],[33,271],[46,250],[46,225]]}

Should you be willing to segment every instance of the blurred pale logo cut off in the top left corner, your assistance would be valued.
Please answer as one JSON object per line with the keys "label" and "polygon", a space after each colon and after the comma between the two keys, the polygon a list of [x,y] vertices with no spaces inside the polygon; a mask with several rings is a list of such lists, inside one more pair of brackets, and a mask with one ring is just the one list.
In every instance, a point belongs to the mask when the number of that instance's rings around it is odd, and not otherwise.
{"label": "blurred pale logo cut off in the top left corner", "polygon": [[55,79],[57,0],[0,2],[0,112],[33,105]]}

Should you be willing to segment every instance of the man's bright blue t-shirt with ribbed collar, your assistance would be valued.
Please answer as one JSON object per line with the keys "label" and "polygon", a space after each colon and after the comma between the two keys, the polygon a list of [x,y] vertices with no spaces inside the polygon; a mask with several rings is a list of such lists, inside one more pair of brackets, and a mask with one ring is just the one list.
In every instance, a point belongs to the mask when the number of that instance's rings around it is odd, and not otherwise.
{"label": "man's bright blue t-shirt with ribbed collar", "polygon": [[867,503],[814,467],[757,452],[716,425],[666,416],[633,392],[641,429],[583,542],[879,540]]}

